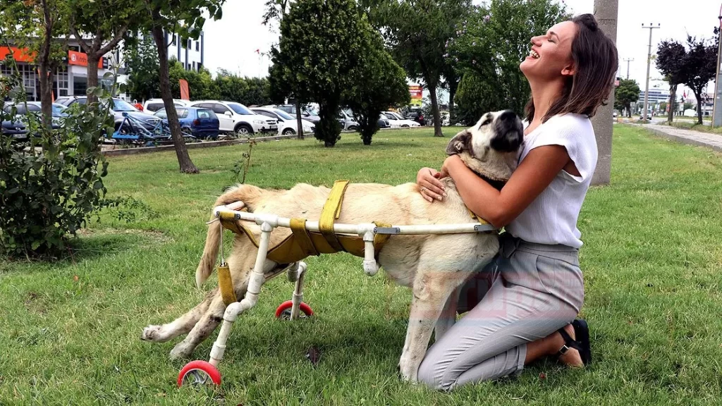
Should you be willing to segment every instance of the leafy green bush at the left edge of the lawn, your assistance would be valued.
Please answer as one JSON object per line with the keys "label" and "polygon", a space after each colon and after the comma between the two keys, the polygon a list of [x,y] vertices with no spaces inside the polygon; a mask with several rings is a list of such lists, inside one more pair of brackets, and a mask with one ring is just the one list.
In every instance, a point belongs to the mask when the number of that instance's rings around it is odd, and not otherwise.
{"label": "leafy green bush at the left edge of the lawn", "polygon": [[[14,108],[4,112],[2,100],[25,94],[8,91],[13,88],[17,78],[0,78],[2,120],[15,116]],[[90,91],[110,98],[100,88]],[[0,134],[0,254],[56,254],[103,203],[108,163],[99,141],[103,131],[113,131],[108,105],[79,105],[52,130],[41,125],[40,115],[25,116],[27,141]]]}

